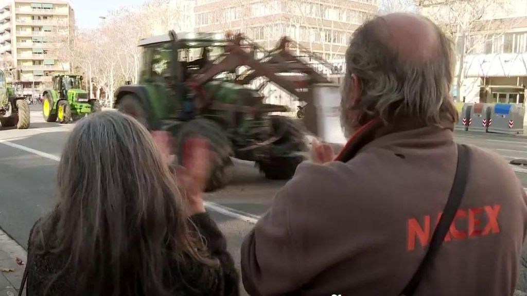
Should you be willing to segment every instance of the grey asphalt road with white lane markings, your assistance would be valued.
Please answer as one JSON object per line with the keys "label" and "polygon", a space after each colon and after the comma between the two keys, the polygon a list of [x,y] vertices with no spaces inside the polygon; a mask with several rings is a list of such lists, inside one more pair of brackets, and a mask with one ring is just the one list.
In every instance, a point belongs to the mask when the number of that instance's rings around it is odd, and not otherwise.
{"label": "grey asphalt road with white lane markings", "polygon": [[[46,123],[40,106],[32,106],[28,130],[0,130],[0,228],[24,248],[33,223],[55,203],[56,168],[74,124]],[[456,133],[457,140],[491,149],[505,159],[527,159],[527,137]],[[527,167],[516,168],[527,187]],[[236,161],[235,180],[206,195],[208,209],[227,236],[239,262],[239,248],[258,216],[264,214],[284,182],[268,181],[251,162]]]}

